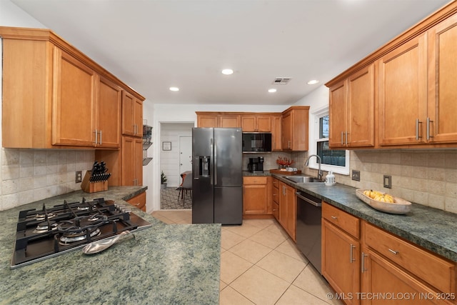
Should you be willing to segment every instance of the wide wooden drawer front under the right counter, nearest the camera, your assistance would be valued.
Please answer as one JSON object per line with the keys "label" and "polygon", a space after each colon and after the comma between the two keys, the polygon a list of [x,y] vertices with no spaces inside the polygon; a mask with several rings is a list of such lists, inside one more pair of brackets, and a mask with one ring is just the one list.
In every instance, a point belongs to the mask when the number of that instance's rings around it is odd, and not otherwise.
{"label": "wide wooden drawer front under the right counter, nearest the camera", "polygon": [[365,244],[431,284],[439,291],[456,292],[455,264],[428,253],[408,241],[363,222]]}

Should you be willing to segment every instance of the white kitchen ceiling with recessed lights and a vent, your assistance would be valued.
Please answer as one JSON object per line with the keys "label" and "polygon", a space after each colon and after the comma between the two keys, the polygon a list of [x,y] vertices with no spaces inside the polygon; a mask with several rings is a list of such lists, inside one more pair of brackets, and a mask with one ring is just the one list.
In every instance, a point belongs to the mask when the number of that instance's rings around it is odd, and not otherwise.
{"label": "white kitchen ceiling with recessed lights and a vent", "polygon": [[11,1],[149,102],[251,105],[295,103],[449,2]]}

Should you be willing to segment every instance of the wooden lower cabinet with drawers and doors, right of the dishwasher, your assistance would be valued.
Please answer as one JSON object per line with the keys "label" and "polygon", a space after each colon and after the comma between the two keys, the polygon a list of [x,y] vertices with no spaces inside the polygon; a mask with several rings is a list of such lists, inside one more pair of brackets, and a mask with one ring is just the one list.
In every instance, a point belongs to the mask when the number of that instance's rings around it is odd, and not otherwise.
{"label": "wooden lower cabinet with drawers and doors, right of the dishwasher", "polygon": [[322,207],[322,275],[345,304],[457,304],[455,262]]}

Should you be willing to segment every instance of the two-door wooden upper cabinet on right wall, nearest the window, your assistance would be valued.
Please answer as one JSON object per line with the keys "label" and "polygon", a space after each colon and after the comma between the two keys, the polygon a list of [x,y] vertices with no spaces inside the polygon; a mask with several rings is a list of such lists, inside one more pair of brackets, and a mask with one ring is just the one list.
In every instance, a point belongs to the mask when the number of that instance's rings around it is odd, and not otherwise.
{"label": "two-door wooden upper cabinet on right wall, nearest the window", "polygon": [[374,146],[373,64],[330,89],[331,148]]}

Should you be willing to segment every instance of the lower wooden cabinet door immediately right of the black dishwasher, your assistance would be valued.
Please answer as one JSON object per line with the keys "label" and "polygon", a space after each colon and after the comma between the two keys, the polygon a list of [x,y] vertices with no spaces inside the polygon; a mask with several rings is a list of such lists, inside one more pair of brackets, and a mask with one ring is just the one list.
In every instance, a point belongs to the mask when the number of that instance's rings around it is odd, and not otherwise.
{"label": "lower wooden cabinet door immediately right of the black dishwasher", "polygon": [[346,304],[358,304],[360,283],[360,243],[326,219],[322,219],[322,275],[337,294],[353,298]]}

